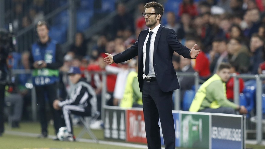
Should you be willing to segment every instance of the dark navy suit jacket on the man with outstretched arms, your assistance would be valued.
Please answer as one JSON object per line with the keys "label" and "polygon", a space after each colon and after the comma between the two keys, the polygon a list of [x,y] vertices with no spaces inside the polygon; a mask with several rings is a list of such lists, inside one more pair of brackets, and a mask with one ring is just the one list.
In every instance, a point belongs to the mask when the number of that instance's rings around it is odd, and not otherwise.
{"label": "dark navy suit jacket on the man with outstretched arms", "polygon": [[[139,87],[143,88],[143,46],[149,29],[141,31],[138,40],[125,51],[115,55],[115,63],[121,63],[138,56],[138,81]],[[179,89],[178,79],[172,64],[172,55],[176,51],[185,58],[191,58],[190,49],[183,46],[173,29],[160,26],[155,37],[154,45],[154,70],[159,87],[163,92]]]}

